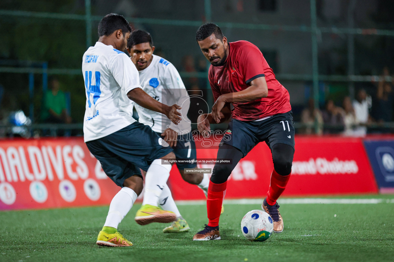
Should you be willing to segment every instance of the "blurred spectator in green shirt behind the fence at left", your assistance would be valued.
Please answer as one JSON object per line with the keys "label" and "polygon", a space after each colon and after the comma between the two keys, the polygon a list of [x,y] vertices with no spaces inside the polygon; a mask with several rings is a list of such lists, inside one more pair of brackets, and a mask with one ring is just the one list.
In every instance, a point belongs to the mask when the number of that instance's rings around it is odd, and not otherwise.
{"label": "blurred spectator in green shirt behind the fence at left", "polygon": [[46,91],[43,97],[41,119],[44,123],[71,123],[71,117],[66,110],[66,97],[59,90],[59,81],[54,78],[50,81],[51,90]]}

